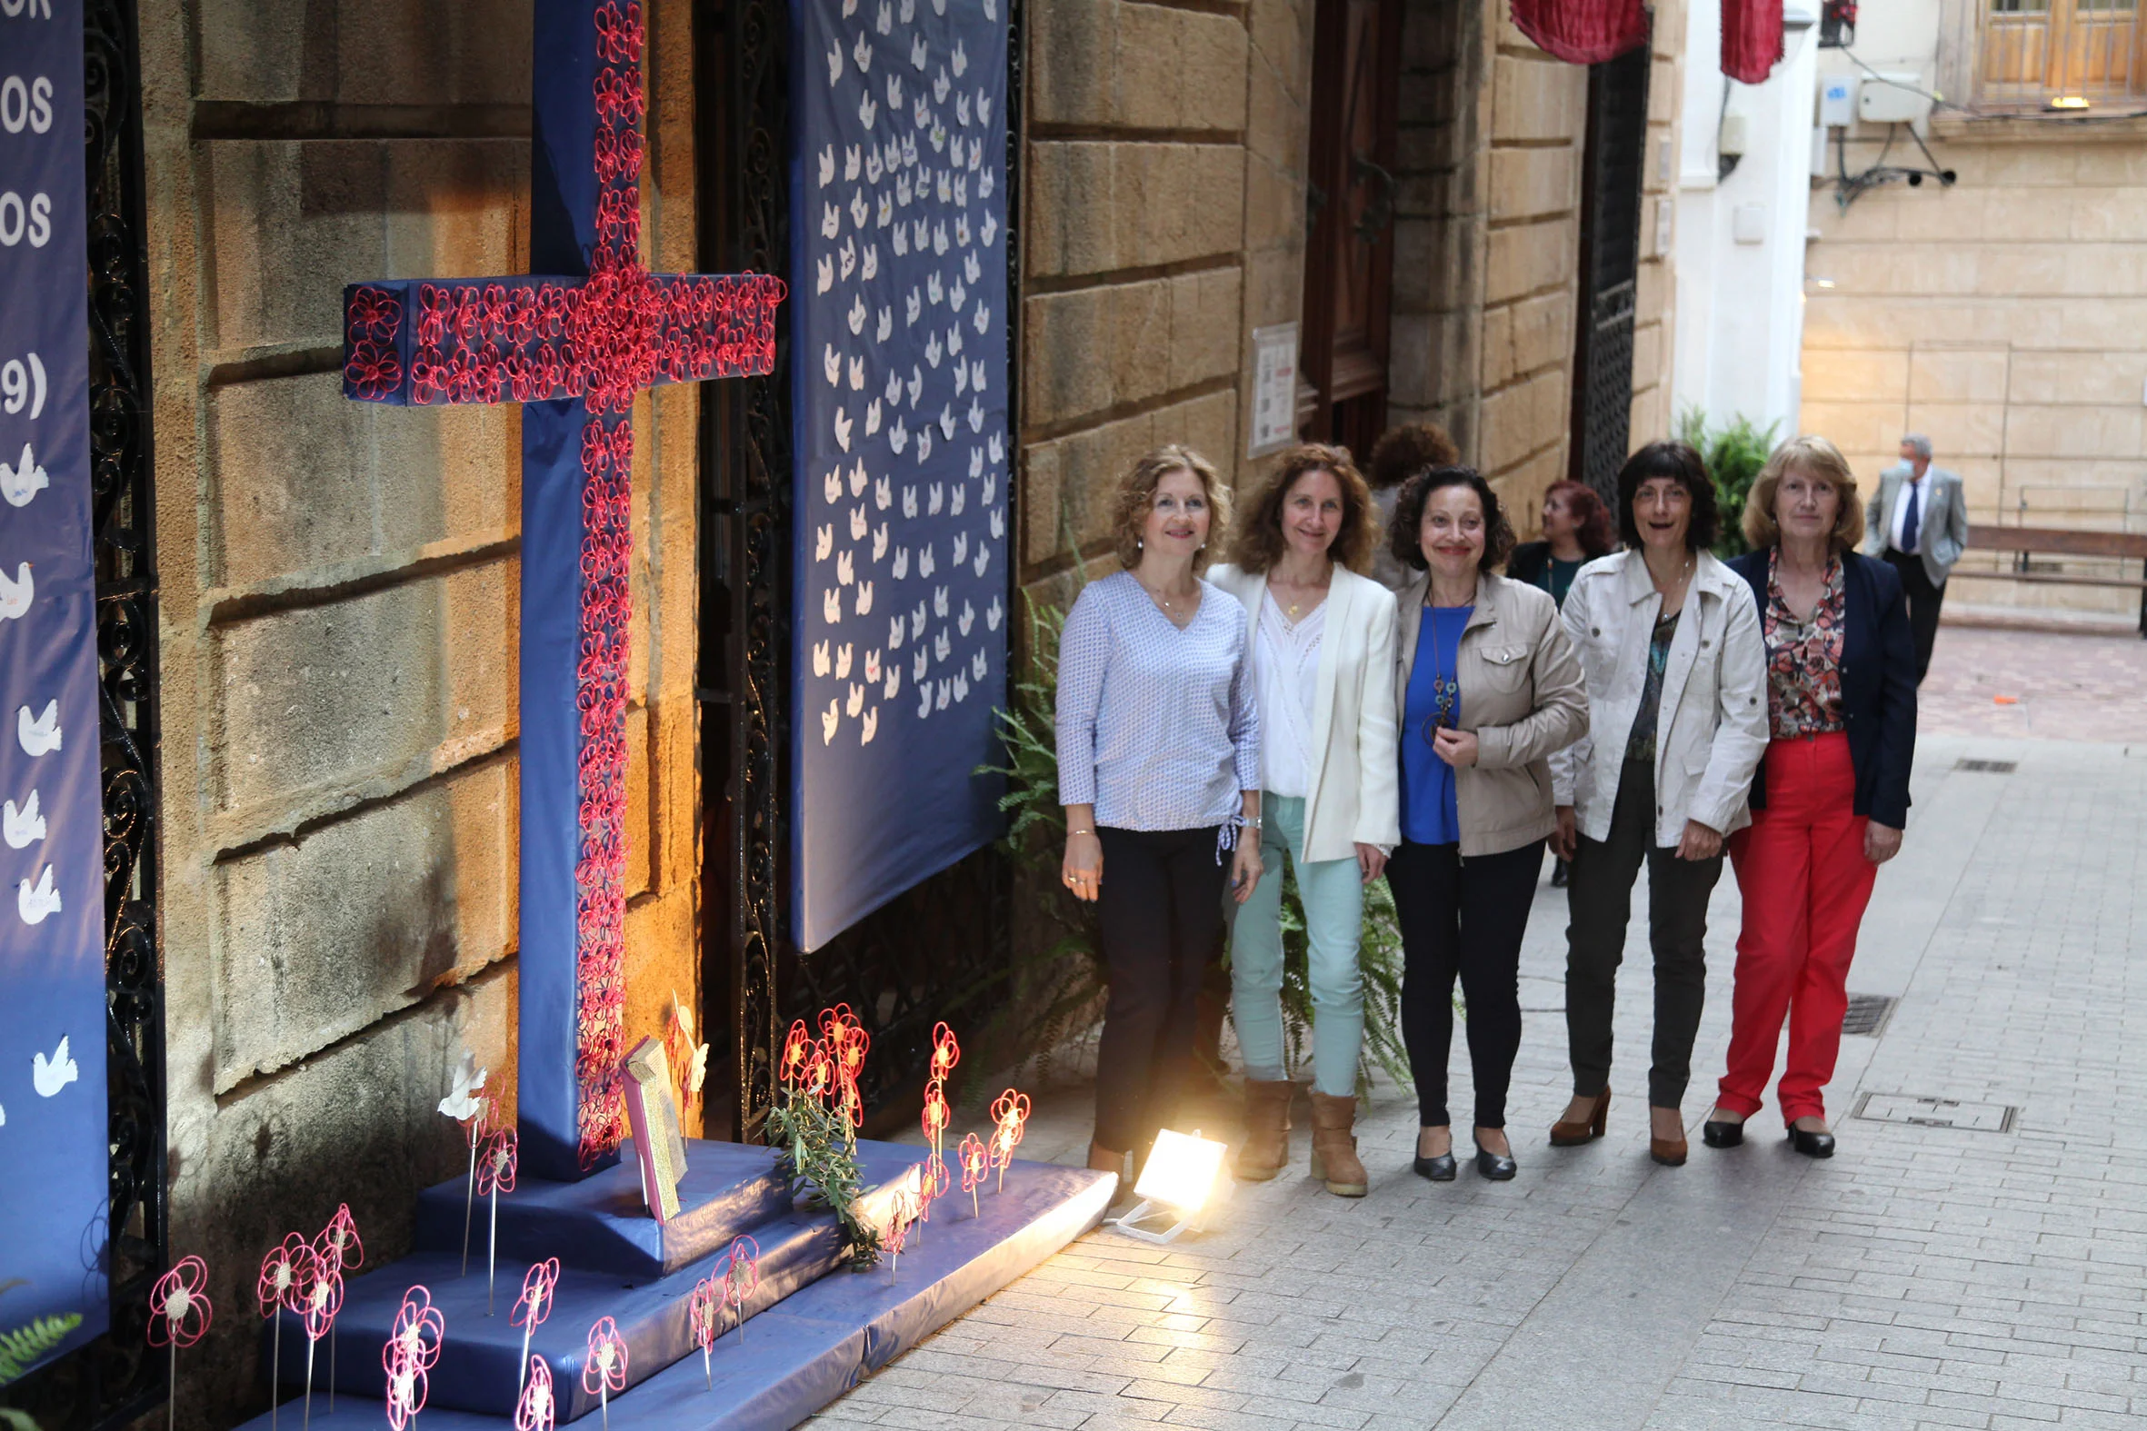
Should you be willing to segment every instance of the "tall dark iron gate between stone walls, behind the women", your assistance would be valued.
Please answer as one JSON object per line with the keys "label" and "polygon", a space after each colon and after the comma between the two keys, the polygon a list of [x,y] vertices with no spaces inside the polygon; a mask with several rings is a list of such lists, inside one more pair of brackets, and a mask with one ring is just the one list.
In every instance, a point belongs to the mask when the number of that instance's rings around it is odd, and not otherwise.
{"label": "tall dark iron gate between stone walls, behind the women", "polygon": [[1589,67],[1580,182],[1580,335],[1569,476],[1617,504],[1632,440],[1632,324],[1640,279],[1649,45]]}

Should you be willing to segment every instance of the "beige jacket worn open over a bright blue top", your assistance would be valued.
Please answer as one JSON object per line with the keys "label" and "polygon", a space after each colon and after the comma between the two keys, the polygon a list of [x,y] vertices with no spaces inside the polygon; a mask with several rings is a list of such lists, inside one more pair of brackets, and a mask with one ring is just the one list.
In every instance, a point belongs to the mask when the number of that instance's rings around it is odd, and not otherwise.
{"label": "beige jacket worn open over a bright blue top", "polygon": [[[1404,721],[1408,669],[1417,661],[1430,573],[1396,596],[1396,721]],[[1475,732],[1477,764],[1454,772],[1462,858],[1518,850],[1559,828],[1550,798],[1550,753],[1589,729],[1580,661],[1548,592],[1479,575],[1475,611],[1462,626],[1454,674],[1462,689],[1460,727]],[[1400,740],[1423,740],[1402,729]]]}

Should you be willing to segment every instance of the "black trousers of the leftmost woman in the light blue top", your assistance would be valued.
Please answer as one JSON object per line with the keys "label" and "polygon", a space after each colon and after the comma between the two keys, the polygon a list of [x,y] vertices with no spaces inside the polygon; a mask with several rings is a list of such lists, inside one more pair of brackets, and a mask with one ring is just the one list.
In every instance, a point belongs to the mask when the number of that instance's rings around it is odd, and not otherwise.
{"label": "black trousers of the leftmost woman in the light blue top", "polygon": [[1104,882],[1097,923],[1110,968],[1110,1006],[1095,1071],[1095,1141],[1140,1152],[1170,1120],[1192,1071],[1200,974],[1222,946],[1215,826],[1112,830],[1097,826]]}

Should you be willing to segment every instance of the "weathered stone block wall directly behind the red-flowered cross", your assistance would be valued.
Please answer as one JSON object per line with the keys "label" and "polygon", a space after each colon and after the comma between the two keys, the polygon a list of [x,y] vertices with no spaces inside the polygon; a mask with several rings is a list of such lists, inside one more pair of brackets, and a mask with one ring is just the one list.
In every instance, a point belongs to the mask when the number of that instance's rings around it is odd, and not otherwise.
{"label": "weathered stone block wall directly behind the red-flowered cross", "polygon": [[[651,19],[644,257],[691,268],[687,0]],[[339,390],[341,290],[528,268],[526,0],[142,6],[163,579],[172,1246],[253,1388],[251,1279],[348,1201],[369,1257],[513,1111],[520,418]],[[693,388],[636,410],[629,1036],[698,1004]]]}

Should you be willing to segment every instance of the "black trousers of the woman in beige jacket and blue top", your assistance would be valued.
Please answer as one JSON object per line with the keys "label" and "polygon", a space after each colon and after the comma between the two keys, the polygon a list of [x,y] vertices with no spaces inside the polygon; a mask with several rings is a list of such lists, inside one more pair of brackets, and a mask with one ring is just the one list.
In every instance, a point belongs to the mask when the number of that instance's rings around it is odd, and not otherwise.
{"label": "black trousers of the woman in beige jacket and blue top", "polygon": [[1454,978],[1469,1010],[1475,1126],[1505,1126],[1505,1090],[1520,1053],[1520,935],[1529,931],[1544,845],[1460,856],[1460,845],[1402,841],[1387,860],[1387,888],[1402,925],[1402,1043],[1417,1081],[1417,1120],[1447,1116],[1454,1049]]}

